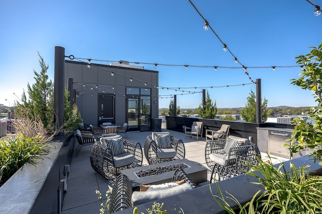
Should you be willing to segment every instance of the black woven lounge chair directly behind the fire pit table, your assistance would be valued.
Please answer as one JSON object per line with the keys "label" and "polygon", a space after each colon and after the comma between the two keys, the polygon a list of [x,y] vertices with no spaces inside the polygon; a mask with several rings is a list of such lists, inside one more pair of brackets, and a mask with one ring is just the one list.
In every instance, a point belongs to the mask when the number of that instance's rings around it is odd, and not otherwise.
{"label": "black woven lounge chair directly behind the fire pit table", "polygon": [[144,143],[144,155],[149,164],[184,159],[186,149],[183,141],[170,132],[152,132]]}

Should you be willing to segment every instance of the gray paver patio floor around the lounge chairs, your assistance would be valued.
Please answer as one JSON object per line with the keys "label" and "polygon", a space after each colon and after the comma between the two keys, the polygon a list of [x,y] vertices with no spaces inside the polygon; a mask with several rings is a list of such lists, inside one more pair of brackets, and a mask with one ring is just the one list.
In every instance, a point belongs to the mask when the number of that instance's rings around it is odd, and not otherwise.
{"label": "gray paver patio floor around the lounge chairs", "polygon": [[[167,131],[167,130],[163,130]],[[128,139],[140,142],[142,149],[145,138],[150,135],[150,131],[146,132],[127,132]],[[207,167],[205,161],[205,138],[196,136],[185,139],[185,134],[181,132],[171,131],[171,134],[179,139],[182,139],[186,148],[186,158],[198,162]],[[73,142],[73,138],[71,138]],[[77,141],[74,142],[74,149],[77,147]],[[70,172],[67,181],[67,191],[64,195],[62,203],[62,214],[68,213],[99,213],[101,202],[98,199],[96,190],[102,193],[103,202],[106,202],[106,191],[112,188],[112,183],[94,171],[90,162],[90,151],[92,145],[84,146],[75,157],[75,152],[72,155],[70,162]],[[262,158],[267,159],[266,153],[262,153]],[[279,158],[280,159],[280,158]],[[277,160],[279,161],[279,160]],[[148,165],[144,155],[143,164]],[[210,179],[211,171],[208,170],[208,180]],[[202,183],[206,185],[208,182]]]}

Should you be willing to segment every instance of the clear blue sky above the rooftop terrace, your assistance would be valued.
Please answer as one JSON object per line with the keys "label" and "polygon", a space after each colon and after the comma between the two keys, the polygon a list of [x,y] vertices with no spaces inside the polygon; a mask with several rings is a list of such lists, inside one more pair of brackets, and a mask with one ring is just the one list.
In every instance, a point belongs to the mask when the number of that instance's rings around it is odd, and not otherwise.
{"label": "clear blue sky above the rooftop terrace", "polygon": [[[246,67],[296,65],[294,57],[321,44],[322,15],[305,0],[207,1],[194,0],[210,26]],[[322,6],[321,0],[313,1]],[[164,1],[1,1],[0,104],[13,105],[27,82],[40,72],[37,52],[49,65],[54,80],[54,47],[66,55],[101,60],[127,60],[155,64],[240,66],[222,51],[222,43],[204,31],[204,21],[188,0]],[[95,62],[93,62],[95,63]],[[140,65],[159,72],[165,88],[207,88],[217,107],[244,107],[251,83],[243,69]],[[248,70],[261,79],[262,98],[268,106],[314,106],[310,91],[290,84],[300,68]],[[245,86],[232,86],[248,84]],[[229,85],[227,88],[226,86]],[[219,87],[218,86],[224,86]],[[201,93],[179,95],[159,88],[159,95],[177,95],[181,108],[196,108]],[[159,99],[159,108],[170,98]]]}

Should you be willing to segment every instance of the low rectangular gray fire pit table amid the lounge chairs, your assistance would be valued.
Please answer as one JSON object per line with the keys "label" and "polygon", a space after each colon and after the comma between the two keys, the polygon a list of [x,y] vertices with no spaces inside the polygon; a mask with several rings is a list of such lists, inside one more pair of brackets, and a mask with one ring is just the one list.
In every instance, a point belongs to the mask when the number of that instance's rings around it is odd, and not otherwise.
{"label": "low rectangular gray fire pit table amid the lounge chairs", "polygon": [[160,184],[165,182],[171,182],[174,175],[174,171],[164,172],[162,174],[151,175],[147,177],[138,177],[137,172],[144,171],[147,169],[153,169],[156,167],[169,166],[174,164],[185,164],[184,171],[189,175],[189,177],[196,183],[202,183],[207,181],[207,168],[202,166],[200,163],[182,159],[182,160],[172,160],[163,163],[157,163],[152,165],[140,166],[135,168],[122,169],[121,173],[128,176],[131,182],[133,190],[138,190],[140,184]]}

